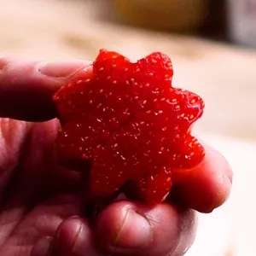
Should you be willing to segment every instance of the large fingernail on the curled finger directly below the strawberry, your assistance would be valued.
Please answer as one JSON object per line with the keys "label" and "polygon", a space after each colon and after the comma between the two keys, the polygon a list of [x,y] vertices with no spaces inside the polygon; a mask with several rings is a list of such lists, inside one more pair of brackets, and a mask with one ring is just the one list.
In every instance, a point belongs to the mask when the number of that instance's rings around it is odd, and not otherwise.
{"label": "large fingernail on the curled finger directly below the strawberry", "polygon": [[129,249],[131,253],[131,250],[147,247],[150,241],[152,232],[148,220],[134,210],[127,210],[124,222],[114,237],[113,251],[120,253],[121,250],[124,253],[125,249]]}

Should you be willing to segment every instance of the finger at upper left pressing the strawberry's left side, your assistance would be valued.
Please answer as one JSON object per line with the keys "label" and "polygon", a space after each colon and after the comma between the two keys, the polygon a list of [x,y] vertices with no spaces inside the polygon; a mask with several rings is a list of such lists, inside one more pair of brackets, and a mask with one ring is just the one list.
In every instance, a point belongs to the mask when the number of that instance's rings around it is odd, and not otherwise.
{"label": "finger at upper left pressing the strawberry's left side", "polygon": [[44,63],[0,57],[0,117],[44,121],[55,117],[52,95],[90,61]]}

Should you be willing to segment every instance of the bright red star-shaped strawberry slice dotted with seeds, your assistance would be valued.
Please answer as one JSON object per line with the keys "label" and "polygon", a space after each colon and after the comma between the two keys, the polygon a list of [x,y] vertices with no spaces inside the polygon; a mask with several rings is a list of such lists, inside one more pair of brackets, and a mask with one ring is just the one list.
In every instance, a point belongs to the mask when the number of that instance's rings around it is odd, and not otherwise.
{"label": "bright red star-shaped strawberry slice dotted with seeds", "polygon": [[147,204],[160,203],[172,188],[172,172],[203,159],[190,131],[204,102],[172,87],[172,76],[172,61],[162,53],[131,63],[102,49],[90,68],[55,93],[58,159],[88,172],[95,200],[126,187]]}

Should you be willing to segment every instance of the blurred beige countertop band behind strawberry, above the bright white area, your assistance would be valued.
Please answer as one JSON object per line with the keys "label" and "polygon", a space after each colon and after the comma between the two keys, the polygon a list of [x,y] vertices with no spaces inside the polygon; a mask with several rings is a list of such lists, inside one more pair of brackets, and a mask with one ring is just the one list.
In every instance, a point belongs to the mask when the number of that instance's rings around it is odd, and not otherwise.
{"label": "blurred beige countertop band behind strawberry, above the bright white area", "polygon": [[116,25],[109,21],[106,3],[0,0],[0,52],[93,60],[99,49],[107,48],[135,61],[162,51],[172,57],[175,85],[195,90],[206,101],[197,129],[256,139],[256,51]]}

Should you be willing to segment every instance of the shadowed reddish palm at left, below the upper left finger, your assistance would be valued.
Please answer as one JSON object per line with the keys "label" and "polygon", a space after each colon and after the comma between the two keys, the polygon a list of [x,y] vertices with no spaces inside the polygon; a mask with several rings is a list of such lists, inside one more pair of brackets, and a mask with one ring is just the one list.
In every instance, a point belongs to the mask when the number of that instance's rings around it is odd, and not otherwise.
{"label": "shadowed reddish palm at left, below the upper left finger", "polygon": [[81,211],[79,173],[55,162],[57,125],[0,119],[0,255],[30,255],[40,236]]}

